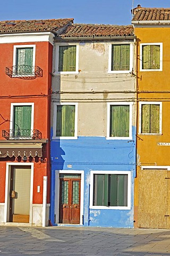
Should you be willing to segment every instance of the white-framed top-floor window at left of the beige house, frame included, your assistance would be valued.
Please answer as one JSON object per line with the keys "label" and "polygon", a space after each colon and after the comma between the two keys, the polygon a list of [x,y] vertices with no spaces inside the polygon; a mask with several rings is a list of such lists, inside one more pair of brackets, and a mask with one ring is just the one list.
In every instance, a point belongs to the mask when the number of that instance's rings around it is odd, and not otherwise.
{"label": "white-framed top-floor window at left of the beige house, frame included", "polygon": [[58,72],[64,74],[78,73],[78,45],[57,45]]}

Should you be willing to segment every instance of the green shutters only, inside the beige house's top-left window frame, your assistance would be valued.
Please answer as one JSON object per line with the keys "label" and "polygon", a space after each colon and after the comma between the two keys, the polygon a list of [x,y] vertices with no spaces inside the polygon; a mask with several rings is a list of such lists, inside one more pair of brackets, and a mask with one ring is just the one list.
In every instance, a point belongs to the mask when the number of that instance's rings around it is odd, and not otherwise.
{"label": "green shutters only, inside the beige house's top-left window frame", "polygon": [[76,46],[59,46],[58,71],[75,71]]}

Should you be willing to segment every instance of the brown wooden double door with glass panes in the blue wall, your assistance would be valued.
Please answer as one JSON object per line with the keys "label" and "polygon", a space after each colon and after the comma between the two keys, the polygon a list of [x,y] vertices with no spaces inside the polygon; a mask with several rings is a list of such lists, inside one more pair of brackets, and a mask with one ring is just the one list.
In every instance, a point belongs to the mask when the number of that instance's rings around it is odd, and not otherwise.
{"label": "brown wooden double door with glass panes in the blue wall", "polygon": [[80,223],[80,185],[79,174],[60,175],[60,223]]}

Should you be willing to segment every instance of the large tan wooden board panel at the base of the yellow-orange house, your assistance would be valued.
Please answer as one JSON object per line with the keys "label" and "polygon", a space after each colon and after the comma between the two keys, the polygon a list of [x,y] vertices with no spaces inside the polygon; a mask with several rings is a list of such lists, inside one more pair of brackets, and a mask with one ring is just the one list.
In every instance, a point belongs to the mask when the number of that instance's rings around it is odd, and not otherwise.
{"label": "large tan wooden board panel at the base of the yellow-orange house", "polygon": [[138,227],[170,228],[170,173],[167,170],[140,170]]}

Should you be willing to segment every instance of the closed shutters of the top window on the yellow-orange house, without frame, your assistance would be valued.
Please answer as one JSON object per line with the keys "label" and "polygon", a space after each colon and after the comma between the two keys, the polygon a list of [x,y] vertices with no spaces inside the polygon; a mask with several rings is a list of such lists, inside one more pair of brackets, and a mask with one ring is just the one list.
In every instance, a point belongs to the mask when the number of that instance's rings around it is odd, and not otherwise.
{"label": "closed shutters of the top window on the yellow-orange house, without frame", "polygon": [[142,46],[142,69],[160,69],[160,45]]}

